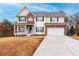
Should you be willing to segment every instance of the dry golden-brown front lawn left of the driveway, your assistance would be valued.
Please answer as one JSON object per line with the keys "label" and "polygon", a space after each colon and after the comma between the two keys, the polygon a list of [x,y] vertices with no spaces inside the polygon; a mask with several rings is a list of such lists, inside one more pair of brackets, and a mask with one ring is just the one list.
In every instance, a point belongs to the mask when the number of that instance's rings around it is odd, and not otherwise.
{"label": "dry golden-brown front lawn left of the driveway", "polygon": [[1,37],[0,56],[32,56],[44,36]]}

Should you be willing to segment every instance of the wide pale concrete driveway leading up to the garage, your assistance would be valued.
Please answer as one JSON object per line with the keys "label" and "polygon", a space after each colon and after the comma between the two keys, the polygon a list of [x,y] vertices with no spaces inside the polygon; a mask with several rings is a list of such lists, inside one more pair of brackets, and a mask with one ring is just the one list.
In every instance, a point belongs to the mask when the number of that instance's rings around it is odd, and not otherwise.
{"label": "wide pale concrete driveway leading up to the garage", "polygon": [[79,41],[64,35],[47,35],[34,56],[78,56]]}

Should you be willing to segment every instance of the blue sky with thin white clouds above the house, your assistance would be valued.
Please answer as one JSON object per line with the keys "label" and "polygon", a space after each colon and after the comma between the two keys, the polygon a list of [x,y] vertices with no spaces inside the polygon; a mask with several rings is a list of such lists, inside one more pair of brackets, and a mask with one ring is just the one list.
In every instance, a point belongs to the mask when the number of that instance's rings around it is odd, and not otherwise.
{"label": "blue sky with thin white clouds above the house", "polygon": [[63,10],[70,16],[79,11],[78,3],[5,3],[0,4],[0,21],[8,19],[11,22],[16,20],[17,13],[26,6],[30,11],[56,12]]}

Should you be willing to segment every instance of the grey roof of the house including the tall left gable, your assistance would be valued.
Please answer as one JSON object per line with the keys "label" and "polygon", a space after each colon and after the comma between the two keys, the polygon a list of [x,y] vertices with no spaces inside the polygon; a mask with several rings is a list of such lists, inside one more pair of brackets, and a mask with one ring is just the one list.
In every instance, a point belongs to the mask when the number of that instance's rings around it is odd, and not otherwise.
{"label": "grey roof of the house including the tall left gable", "polygon": [[[30,12],[28,8],[24,7],[18,14],[17,16],[21,16],[20,14],[23,12],[23,10],[27,11],[28,14],[31,13],[34,16],[47,16],[47,17],[64,17],[65,14],[62,12]],[[24,12],[23,16],[27,16],[27,13]]]}

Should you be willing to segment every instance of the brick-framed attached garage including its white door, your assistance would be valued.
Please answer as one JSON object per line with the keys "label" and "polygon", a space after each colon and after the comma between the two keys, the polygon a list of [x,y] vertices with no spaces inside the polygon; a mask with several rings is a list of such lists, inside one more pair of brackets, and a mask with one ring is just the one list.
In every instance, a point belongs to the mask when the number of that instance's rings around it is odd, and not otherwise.
{"label": "brick-framed attached garage including its white door", "polygon": [[65,35],[67,32],[65,25],[46,25],[47,35]]}

